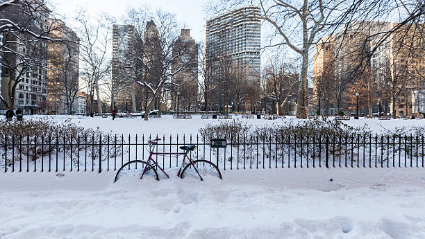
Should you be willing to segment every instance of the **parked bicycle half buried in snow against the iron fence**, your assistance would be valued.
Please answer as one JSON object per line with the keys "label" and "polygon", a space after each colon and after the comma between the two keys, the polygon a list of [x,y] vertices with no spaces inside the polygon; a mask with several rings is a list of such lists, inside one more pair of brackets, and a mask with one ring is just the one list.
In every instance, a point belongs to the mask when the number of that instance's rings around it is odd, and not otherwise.
{"label": "parked bicycle half buried in snow against the iron fence", "polygon": [[[140,179],[143,177],[153,177],[154,179],[159,180],[158,172],[155,167],[159,168],[164,173],[164,175],[169,178],[169,175],[163,170],[163,168],[160,167],[158,161],[153,159],[153,155],[184,155],[181,166],[177,172],[177,177],[180,177],[181,179],[183,179],[185,175],[199,177],[201,181],[203,181],[206,175],[213,175],[215,177],[219,177],[219,179],[222,179],[222,173],[214,163],[203,159],[192,161],[191,157],[188,156],[188,152],[195,150],[196,145],[186,145],[179,147],[181,150],[185,150],[185,152],[153,152],[156,145],[158,145],[158,141],[160,140],[161,139],[153,139],[148,141],[150,152],[148,160],[133,160],[124,163],[124,165],[121,166],[121,168],[119,168],[117,171],[114,182],[117,182],[118,179],[124,176],[140,177]],[[189,161],[187,164],[185,164],[186,158]]]}

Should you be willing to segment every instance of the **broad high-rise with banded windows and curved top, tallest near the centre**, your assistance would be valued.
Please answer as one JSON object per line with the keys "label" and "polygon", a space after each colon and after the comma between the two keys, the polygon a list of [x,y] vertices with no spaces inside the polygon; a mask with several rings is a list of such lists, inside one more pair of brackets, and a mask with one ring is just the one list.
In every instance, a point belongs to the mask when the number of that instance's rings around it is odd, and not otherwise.
{"label": "broad high-rise with banded windows and curved top, tallest near the centre", "polygon": [[[210,91],[210,107],[217,105],[219,109],[221,105],[221,109],[228,109],[229,105],[240,103],[251,105],[251,100],[240,102],[239,97],[232,97],[238,95],[233,91],[235,85],[260,90],[261,24],[257,15],[260,8],[247,6],[207,21],[204,64],[215,69],[213,84],[206,85],[206,91]],[[236,78],[238,82],[231,82]]]}

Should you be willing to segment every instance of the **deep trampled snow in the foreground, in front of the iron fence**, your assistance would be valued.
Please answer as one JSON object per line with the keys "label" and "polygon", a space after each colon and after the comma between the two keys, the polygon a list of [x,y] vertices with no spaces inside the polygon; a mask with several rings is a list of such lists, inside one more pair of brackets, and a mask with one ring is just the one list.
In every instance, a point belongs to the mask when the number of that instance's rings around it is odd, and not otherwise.
{"label": "deep trampled snow in the foreground, in front of the iron fence", "polygon": [[0,174],[0,238],[425,238],[423,169],[113,176]]}

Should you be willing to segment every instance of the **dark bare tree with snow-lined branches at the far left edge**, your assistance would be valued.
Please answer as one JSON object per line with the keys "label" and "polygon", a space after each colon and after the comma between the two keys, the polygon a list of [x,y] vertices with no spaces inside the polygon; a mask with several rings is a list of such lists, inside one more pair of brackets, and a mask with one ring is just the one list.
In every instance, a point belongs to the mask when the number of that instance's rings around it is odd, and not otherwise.
{"label": "dark bare tree with snow-lined branches at the far left edge", "polygon": [[[8,109],[15,107],[16,88],[24,76],[47,71],[47,44],[56,41],[50,37],[54,30],[49,26],[50,15],[44,1],[0,1],[0,35],[4,37],[0,61],[5,69],[3,80],[6,79],[0,99]],[[42,105],[45,103],[40,99]]]}

